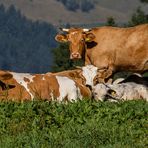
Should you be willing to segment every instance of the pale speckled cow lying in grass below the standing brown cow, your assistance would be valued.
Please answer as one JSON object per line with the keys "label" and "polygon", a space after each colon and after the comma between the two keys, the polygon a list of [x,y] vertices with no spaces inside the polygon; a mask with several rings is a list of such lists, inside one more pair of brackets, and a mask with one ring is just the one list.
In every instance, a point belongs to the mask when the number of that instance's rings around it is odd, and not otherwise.
{"label": "pale speckled cow lying in grass below the standing brown cow", "polygon": [[148,101],[148,81],[137,75],[129,76],[123,81],[113,84],[97,84],[93,87],[95,100],[136,100],[144,99]]}

